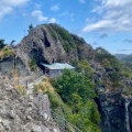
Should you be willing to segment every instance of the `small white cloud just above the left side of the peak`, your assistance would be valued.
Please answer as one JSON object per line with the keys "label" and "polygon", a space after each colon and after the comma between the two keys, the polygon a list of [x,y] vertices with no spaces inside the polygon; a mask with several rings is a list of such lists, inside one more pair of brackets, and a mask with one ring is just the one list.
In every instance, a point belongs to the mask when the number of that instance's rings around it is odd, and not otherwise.
{"label": "small white cloud just above the left side of the peak", "polygon": [[43,12],[41,10],[35,10],[31,13],[32,16],[36,18],[40,22],[46,21],[48,18],[43,15]]}

